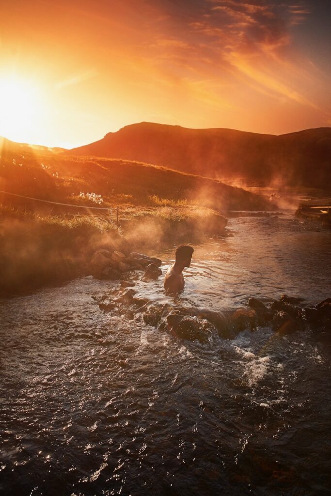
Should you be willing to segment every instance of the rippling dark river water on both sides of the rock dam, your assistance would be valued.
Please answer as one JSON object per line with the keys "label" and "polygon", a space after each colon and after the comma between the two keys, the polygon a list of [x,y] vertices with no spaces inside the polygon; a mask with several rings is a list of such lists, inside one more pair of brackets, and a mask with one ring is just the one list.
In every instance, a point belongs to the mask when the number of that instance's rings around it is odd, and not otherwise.
{"label": "rippling dark river water on both sides of the rock dam", "polygon": [[[196,247],[182,304],[331,296],[330,231],[290,216],[229,227]],[[138,289],[162,301],[158,284]],[[0,302],[1,494],[331,494],[329,342],[268,328],[179,341],[102,312],[92,296],[110,287]]]}

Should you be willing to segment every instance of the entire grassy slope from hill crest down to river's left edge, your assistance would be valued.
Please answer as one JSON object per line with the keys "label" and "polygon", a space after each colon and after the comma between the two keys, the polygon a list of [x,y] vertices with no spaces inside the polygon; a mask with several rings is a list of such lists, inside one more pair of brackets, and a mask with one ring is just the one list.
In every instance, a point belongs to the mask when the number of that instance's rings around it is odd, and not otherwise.
{"label": "entire grassy slope from hill crest down to river's left edge", "polygon": [[163,167],[5,147],[0,190],[12,193],[0,192],[5,296],[88,274],[98,248],[194,242],[224,235],[228,209],[272,208],[241,188]]}

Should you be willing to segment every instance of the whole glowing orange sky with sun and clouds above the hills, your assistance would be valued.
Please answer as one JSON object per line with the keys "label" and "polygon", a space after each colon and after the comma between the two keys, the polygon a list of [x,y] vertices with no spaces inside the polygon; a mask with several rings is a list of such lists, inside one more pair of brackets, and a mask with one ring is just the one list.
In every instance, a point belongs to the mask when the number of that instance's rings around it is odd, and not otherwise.
{"label": "whole glowing orange sky with sun and clouds above the hills", "polygon": [[0,135],[71,148],[142,121],[331,125],[330,0],[4,0]]}

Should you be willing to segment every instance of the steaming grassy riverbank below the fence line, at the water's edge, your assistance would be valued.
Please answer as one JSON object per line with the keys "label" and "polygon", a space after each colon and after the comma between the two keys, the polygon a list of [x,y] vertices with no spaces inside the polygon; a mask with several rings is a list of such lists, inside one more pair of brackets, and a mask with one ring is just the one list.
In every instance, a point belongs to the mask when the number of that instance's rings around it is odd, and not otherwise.
{"label": "steaming grassy riverbank below the fence line, at the water's edge", "polygon": [[[226,219],[186,205],[121,207],[119,227],[108,216],[31,214],[0,208],[0,295],[13,296],[91,274],[101,248],[129,254],[224,233]],[[126,274],[123,274],[123,278]]]}

